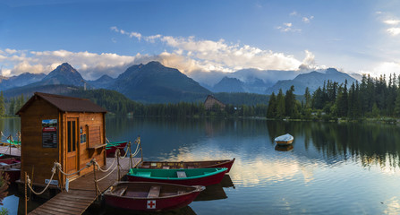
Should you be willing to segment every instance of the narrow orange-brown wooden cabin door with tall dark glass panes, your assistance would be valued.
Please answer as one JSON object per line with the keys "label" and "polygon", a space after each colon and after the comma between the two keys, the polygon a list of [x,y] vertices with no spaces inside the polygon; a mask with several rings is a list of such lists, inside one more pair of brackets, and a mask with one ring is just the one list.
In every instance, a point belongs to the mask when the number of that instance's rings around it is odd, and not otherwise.
{"label": "narrow orange-brown wooden cabin door with tall dark glass panes", "polygon": [[[66,168],[68,173],[78,170],[78,118],[67,119],[67,156]],[[78,152],[77,152],[78,151]]]}

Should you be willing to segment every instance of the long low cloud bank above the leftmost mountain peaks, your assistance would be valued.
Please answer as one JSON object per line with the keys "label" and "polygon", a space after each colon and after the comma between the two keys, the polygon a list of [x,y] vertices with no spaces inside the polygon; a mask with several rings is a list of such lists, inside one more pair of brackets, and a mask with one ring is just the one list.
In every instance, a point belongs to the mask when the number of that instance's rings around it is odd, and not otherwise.
{"label": "long low cloud bank above the leftmost mountain peaks", "polygon": [[55,51],[27,51],[0,49],[0,64],[4,66],[2,75],[11,76],[21,73],[49,73],[59,64],[68,62],[85,79],[96,79],[102,74],[116,76],[134,62],[137,56],[119,56],[112,53]]}

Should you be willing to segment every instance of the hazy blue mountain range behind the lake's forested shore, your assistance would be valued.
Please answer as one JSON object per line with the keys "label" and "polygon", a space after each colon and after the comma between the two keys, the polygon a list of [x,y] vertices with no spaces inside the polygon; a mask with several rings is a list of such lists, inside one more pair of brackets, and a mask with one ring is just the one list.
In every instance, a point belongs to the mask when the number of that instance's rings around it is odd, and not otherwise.
{"label": "hazy blue mountain range behind the lake's forested shore", "polygon": [[[10,78],[1,76],[0,90],[4,90],[4,96],[14,97],[21,93],[31,95],[34,91],[63,93],[63,91],[67,92],[85,86],[87,89],[115,90],[129,99],[143,103],[176,103],[203,101],[208,94],[213,92],[270,94],[277,93],[277,90],[281,88],[288,90],[294,85],[294,93],[303,94],[305,87],[309,87],[312,92],[328,80],[355,82],[355,79],[348,74],[338,72],[333,68],[302,74],[296,74],[293,71],[268,71],[268,74],[272,76],[277,76],[279,73],[282,76],[283,74],[294,76],[293,80],[277,81],[275,84],[264,72],[246,69],[235,73],[224,73],[225,76],[222,76],[219,82],[209,86],[193,80],[195,77],[199,78],[199,74],[191,74],[192,78],[190,78],[177,69],[153,61],[148,64],[134,64],[116,78],[103,75],[98,80],[86,81],[72,65],[64,63],[47,75],[23,73]],[[209,78],[205,74],[202,75],[200,80]]]}

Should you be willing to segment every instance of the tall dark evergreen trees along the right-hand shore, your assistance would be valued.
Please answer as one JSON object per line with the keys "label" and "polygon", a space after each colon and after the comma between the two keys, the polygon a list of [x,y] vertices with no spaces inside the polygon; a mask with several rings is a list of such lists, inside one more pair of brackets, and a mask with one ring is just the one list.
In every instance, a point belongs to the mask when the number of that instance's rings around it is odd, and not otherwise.
{"label": "tall dark evergreen trees along the right-hand shore", "polygon": [[306,88],[302,99],[295,99],[294,86],[273,93],[268,102],[268,118],[349,118],[400,117],[400,75],[372,78],[363,75],[361,82],[349,84],[324,82],[312,95]]}

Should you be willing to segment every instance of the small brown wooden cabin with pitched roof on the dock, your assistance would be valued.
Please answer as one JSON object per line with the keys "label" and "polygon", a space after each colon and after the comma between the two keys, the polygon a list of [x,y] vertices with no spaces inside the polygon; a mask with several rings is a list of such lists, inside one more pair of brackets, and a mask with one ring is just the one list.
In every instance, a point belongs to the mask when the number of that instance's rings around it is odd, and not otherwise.
{"label": "small brown wooden cabin with pitched roof on the dock", "polygon": [[[46,185],[55,161],[66,173],[84,168],[91,159],[106,165],[106,109],[89,99],[35,92],[17,115],[21,116],[21,182],[27,172],[33,185]],[[86,168],[78,176],[91,171]],[[64,185],[65,178],[57,174],[55,183]]]}

